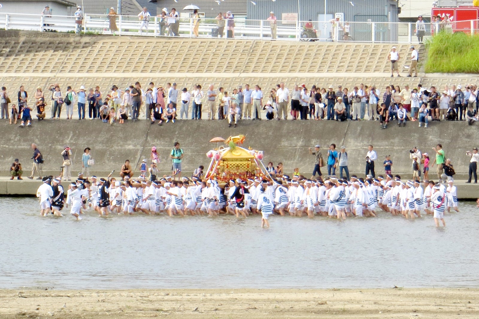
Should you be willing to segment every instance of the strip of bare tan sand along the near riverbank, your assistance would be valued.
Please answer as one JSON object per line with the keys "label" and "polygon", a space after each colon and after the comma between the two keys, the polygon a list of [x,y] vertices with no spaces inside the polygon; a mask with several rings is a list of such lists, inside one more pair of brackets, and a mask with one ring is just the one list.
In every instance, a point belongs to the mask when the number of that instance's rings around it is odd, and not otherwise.
{"label": "strip of bare tan sand along the near riverbank", "polygon": [[0,318],[479,318],[479,289],[0,290]]}

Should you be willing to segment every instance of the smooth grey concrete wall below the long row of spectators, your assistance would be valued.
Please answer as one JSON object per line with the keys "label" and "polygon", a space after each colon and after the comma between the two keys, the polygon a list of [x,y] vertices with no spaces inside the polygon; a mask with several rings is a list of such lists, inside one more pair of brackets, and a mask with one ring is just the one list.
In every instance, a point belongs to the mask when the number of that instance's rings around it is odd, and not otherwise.
{"label": "smooth grey concrete wall below the long row of spectators", "polygon": [[[433,155],[431,148],[442,143],[446,157],[452,159],[457,177],[461,178],[464,177],[462,173],[468,171],[466,150],[479,144],[478,127],[468,126],[466,122],[433,122],[427,129],[417,127],[417,122],[409,122],[407,127],[391,124],[386,130],[379,129],[376,121],[241,121],[237,128],[228,128],[226,121],[218,120],[178,120],[163,126],[150,125],[145,120],[112,126],[98,120],[46,120],[33,124],[31,128],[19,128],[5,121],[0,123],[1,175],[8,176],[15,158],[20,159],[25,171],[31,168],[32,142],[41,150],[44,168],[49,174],[58,174],[64,145],[72,148],[73,174],[81,170],[85,147],[91,148],[96,161],[92,173],[107,175],[113,169],[119,170],[125,159],[129,159],[138,171],[141,160],[150,158],[152,146],[160,152],[161,174],[169,174],[169,153],[175,141],[181,143],[185,152],[183,171],[190,172],[198,165],[209,163],[205,153],[217,147],[216,143],[209,143],[212,137],[245,134],[244,146],[263,150],[265,164],[272,161],[276,165],[281,161],[286,172],[298,167],[305,176],[310,175],[314,164],[308,147],[315,144],[321,145],[324,159],[329,144],[335,143],[338,149],[346,146],[350,171],[364,175],[369,144],[374,145],[378,154],[376,172],[384,172],[382,161],[390,154],[394,162],[393,173],[409,173],[409,149],[417,146],[422,152]],[[430,176],[434,177],[434,172],[432,169]]]}

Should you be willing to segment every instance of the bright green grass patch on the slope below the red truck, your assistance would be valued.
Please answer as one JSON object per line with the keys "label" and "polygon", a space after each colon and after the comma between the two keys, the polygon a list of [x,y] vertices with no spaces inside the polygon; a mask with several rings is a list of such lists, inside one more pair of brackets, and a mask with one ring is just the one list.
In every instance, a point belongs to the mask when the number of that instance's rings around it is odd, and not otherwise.
{"label": "bright green grass patch on the slope below the red truck", "polygon": [[441,32],[426,48],[426,73],[479,73],[479,34]]}

